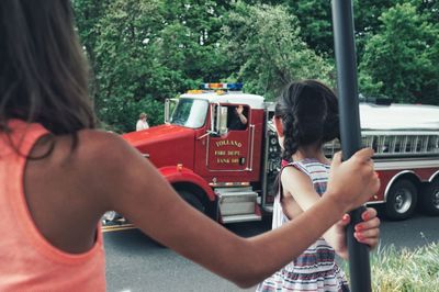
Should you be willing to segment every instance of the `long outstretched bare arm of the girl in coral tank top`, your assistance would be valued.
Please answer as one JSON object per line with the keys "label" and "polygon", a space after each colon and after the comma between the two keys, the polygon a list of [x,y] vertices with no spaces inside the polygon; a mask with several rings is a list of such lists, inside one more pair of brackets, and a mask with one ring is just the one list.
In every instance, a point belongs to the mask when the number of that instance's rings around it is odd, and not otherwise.
{"label": "long outstretched bare arm of the girl in coral tank top", "polygon": [[[122,213],[154,239],[239,287],[255,285],[290,262],[379,188],[370,162],[372,150],[359,153],[350,162],[338,159],[330,190],[308,212],[282,228],[241,238],[187,204],[121,138],[94,132],[82,135],[80,143],[85,154],[78,149],[77,156],[83,162],[77,161],[81,167],[75,171],[87,186],[83,195],[94,205],[90,210]],[[345,180],[352,183],[341,183]]]}

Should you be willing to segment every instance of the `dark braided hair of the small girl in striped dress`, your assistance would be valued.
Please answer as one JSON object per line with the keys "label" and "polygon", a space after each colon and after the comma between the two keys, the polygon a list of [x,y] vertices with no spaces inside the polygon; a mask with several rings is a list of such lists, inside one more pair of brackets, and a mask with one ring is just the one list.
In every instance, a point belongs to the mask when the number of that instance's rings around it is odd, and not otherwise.
{"label": "dark braided hair of the small girl in striped dress", "polygon": [[291,161],[301,146],[339,138],[336,94],[317,80],[289,83],[275,104],[274,116],[282,120],[284,160]]}

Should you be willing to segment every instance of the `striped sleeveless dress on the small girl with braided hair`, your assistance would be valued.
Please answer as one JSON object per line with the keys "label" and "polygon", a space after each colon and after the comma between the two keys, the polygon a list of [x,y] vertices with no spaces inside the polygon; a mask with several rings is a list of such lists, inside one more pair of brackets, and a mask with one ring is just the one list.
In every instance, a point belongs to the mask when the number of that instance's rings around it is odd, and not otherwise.
{"label": "striped sleeveless dress on the small girl with braided hair", "polygon": [[[288,164],[285,167],[294,167],[308,176],[319,195],[326,191],[329,177],[328,165],[316,159],[304,159]],[[288,221],[278,194],[273,205],[272,228],[278,228]],[[260,283],[257,291],[338,292],[349,291],[349,287],[345,273],[335,262],[334,248],[320,237],[292,262]]]}

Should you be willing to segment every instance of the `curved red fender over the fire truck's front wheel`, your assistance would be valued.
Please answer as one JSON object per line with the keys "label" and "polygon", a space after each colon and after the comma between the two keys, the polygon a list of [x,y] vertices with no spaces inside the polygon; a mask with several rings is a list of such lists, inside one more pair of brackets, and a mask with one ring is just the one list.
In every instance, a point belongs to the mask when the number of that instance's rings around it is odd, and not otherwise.
{"label": "curved red fender over the fire truck's front wheel", "polygon": [[215,193],[213,192],[212,188],[206,183],[206,181],[202,177],[193,172],[191,169],[179,166],[167,166],[167,167],[161,167],[158,170],[169,183],[171,184],[177,182],[193,183],[199,188],[201,188],[206,193],[210,201],[215,200]]}

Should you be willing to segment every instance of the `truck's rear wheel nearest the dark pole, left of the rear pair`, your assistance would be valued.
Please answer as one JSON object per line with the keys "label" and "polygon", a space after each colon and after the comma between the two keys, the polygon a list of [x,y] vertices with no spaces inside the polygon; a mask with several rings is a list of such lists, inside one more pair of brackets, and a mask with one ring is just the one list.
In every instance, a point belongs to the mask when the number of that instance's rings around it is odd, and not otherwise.
{"label": "truck's rear wheel nearest the dark pole, left of the rear pair", "polygon": [[390,189],[385,213],[391,220],[408,218],[415,211],[418,192],[409,180],[398,180]]}

